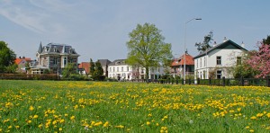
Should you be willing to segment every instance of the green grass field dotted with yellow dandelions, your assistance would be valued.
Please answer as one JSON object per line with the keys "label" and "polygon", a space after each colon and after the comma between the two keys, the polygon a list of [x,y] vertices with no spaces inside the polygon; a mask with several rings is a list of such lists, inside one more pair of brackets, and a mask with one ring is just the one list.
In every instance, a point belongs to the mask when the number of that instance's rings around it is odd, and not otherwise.
{"label": "green grass field dotted with yellow dandelions", "polygon": [[270,88],[0,80],[0,132],[269,132]]}

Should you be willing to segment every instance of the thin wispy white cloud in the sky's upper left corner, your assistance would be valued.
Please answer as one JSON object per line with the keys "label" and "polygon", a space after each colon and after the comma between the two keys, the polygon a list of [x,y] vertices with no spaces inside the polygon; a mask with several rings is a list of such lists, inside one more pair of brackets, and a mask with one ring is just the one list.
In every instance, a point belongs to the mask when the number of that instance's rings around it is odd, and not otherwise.
{"label": "thin wispy white cloud in the sky's upper left corner", "polygon": [[0,4],[1,15],[28,30],[41,34],[66,31],[63,24],[54,18],[53,13],[44,11],[37,6],[25,5],[30,3],[2,1]]}

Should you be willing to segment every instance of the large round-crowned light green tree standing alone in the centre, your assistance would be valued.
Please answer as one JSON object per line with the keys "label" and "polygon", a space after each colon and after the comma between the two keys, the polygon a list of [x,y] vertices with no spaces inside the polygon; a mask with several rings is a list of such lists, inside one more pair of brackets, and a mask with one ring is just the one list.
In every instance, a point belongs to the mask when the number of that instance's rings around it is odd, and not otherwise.
{"label": "large round-crowned light green tree standing alone in the centre", "polygon": [[149,67],[168,66],[172,59],[171,44],[165,43],[165,38],[154,24],[137,24],[130,32],[127,42],[127,63],[131,66],[139,65],[146,69],[148,79]]}

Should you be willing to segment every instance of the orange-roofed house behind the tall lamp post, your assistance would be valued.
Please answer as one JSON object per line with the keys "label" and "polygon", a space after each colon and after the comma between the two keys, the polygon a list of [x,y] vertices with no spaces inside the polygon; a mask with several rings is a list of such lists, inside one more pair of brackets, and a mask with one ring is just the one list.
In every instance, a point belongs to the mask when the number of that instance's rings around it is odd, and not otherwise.
{"label": "orange-roofed house behind the tall lamp post", "polygon": [[[194,74],[194,59],[191,55],[185,52],[185,75]],[[180,58],[175,58],[171,65],[171,75],[184,76],[184,55]]]}

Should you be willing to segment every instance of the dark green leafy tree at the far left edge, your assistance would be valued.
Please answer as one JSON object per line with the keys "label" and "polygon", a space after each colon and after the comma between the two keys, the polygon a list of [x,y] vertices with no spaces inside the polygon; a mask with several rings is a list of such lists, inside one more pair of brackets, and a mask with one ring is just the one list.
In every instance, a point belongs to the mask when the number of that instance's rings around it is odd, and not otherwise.
{"label": "dark green leafy tree at the far left edge", "polygon": [[7,43],[0,41],[0,73],[14,72],[17,68],[14,65],[16,55],[12,49],[7,47]]}

